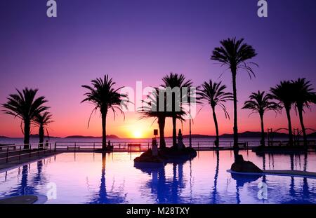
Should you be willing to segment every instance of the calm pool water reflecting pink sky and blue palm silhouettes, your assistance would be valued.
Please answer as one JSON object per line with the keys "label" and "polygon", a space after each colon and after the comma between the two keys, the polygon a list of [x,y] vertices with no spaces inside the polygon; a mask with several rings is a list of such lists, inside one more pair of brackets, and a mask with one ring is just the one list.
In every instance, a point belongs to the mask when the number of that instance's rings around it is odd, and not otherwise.
{"label": "calm pool water reflecting pink sky and blue palm silhouettes", "polygon": [[[266,170],[316,172],[316,154],[256,156]],[[0,198],[48,196],[46,203],[316,203],[316,179],[232,175],[232,151],[199,151],[185,163],[138,169],[140,153],[64,153],[0,173]],[[266,184],[266,196],[258,197]],[[258,187],[259,185],[259,187]],[[51,199],[52,198],[52,199]]]}

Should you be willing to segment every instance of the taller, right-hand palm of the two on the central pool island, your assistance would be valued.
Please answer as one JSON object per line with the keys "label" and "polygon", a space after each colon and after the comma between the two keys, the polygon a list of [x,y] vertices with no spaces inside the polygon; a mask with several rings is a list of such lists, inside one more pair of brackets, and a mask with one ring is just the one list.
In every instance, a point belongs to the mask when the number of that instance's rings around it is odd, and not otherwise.
{"label": "taller, right-hand palm of the two on the central pool island", "polygon": [[[164,85],[162,85],[164,88],[179,88],[180,89],[180,97],[176,97],[175,93],[172,93],[172,142],[173,146],[176,146],[177,144],[177,132],[176,132],[176,120],[177,120],[177,114],[179,111],[177,111],[177,107],[180,108],[183,104],[183,97],[187,96],[187,93],[183,93],[183,88],[190,89],[192,87],[192,81],[187,80],[185,81],[185,76],[183,74],[173,74],[172,72],[169,75],[164,76],[162,79],[164,82]],[[180,98],[180,99],[179,99]]]}

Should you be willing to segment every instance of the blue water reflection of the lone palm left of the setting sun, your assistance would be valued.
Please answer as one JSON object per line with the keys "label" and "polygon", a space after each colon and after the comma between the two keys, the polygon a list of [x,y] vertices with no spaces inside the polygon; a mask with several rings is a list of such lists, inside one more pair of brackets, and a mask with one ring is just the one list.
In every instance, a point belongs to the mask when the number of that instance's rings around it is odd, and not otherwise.
{"label": "blue water reflection of the lone palm left of the setting sun", "polygon": [[126,196],[122,196],[121,193],[108,193],[105,180],[105,153],[102,154],[102,170],[101,170],[101,181],[100,189],[96,196],[93,196],[90,203],[124,203]]}

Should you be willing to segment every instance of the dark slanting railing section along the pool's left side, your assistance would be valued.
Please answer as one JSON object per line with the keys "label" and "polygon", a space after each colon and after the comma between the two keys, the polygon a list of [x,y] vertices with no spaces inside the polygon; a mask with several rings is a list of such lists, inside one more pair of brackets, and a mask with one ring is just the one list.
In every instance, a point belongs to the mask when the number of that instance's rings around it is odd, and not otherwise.
{"label": "dark slanting railing section along the pool's left side", "polygon": [[20,161],[25,156],[39,156],[40,154],[52,153],[53,151],[56,151],[55,142],[1,145],[0,163],[8,163],[14,160]]}

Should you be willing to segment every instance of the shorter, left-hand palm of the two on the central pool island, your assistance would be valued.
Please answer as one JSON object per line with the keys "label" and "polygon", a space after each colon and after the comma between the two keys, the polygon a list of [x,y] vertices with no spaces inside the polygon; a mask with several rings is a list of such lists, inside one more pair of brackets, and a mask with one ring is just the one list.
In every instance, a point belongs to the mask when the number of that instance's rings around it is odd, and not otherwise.
{"label": "shorter, left-hand palm of the two on the central pool island", "polygon": [[[160,95],[159,93],[163,93],[164,95]],[[159,97],[164,97],[164,109],[160,110],[159,108]],[[166,118],[172,117],[172,111],[167,111],[167,107],[170,102],[166,101],[166,90],[161,88],[154,88],[154,92],[147,96],[147,100],[143,101],[144,106],[140,108],[139,112],[142,114],[140,118],[155,118],[154,121],[157,120],[159,126],[159,148],[166,148],[166,141],[164,139],[164,127],[166,124]],[[185,111],[181,109],[176,113],[176,118],[180,121],[183,121],[183,115],[185,115]]]}

